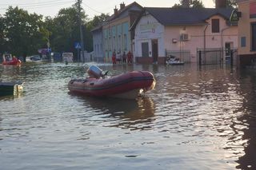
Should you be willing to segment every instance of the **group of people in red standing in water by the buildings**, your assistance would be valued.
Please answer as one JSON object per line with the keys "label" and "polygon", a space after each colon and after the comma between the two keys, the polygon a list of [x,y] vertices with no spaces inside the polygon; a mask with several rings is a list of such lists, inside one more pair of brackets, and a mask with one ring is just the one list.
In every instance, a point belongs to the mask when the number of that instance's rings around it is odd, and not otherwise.
{"label": "group of people in red standing in water by the buildings", "polygon": [[112,54],[112,63],[113,65],[118,63],[132,63],[133,61],[133,54],[129,51],[127,54],[124,51],[123,53],[121,53],[120,51],[118,51],[118,54],[115,53],[115,51]]}

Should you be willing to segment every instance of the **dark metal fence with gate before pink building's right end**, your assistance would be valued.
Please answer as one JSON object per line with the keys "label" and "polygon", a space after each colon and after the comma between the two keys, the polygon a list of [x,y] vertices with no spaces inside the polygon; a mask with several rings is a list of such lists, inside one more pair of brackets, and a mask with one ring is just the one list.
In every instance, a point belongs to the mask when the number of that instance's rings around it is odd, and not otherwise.
{"label": "dark metal fence with gate before pink building's right end", "polygon": [[237,49],[197,49],[198,65],[236,65]]}

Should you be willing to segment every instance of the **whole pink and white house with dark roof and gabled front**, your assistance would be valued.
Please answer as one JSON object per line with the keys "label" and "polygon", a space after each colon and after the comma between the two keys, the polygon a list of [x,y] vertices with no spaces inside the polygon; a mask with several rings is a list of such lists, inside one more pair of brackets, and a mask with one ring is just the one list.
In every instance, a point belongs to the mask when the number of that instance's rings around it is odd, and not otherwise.
{"label": "whole pink and white house with dark roof and gabled front", "polygon": [[[135,30],[138,63],[165,63],[167,55],[197,62],[200,49],[237,49],[238,26],[229,22],[228,8],[145,8]],[[230,53],[222,52],[222,61]]]}

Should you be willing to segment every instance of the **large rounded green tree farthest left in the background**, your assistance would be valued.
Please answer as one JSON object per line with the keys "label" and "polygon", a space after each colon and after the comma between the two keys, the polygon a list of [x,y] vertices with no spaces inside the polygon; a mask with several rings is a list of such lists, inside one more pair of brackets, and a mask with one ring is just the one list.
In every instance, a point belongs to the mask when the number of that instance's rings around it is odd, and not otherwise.
{"label": "large rounded green tree farthest left in the background", "polygon": [[28,14],[26,10],[10,6],[6,11],[4,36],[6,50],[14,55],[26,57],[37,53],[46,44],[47,31],[43,27],[42,15]]}

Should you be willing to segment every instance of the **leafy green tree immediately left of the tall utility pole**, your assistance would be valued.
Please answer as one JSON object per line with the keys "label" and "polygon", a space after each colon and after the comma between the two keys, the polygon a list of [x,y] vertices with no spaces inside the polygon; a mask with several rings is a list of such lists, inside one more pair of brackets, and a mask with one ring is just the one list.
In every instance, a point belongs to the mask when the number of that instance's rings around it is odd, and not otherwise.
{"label": "leafy green tree immediately left of the tall utility pole", "polygon": [[[86,28],[88,20],[84,11],[81,12],[82,26]],[[76,5],[64,8],[58,11],[55,18],[46,18],[46,29],[50,32],[50,46],[52,50],[58,52],[77,53],[74,43],[80,41],[79,34],[79,17]],[[86,29],[84,31],[84,39],[86,38]],[[77,55],[74,55],[75,57]]]}

